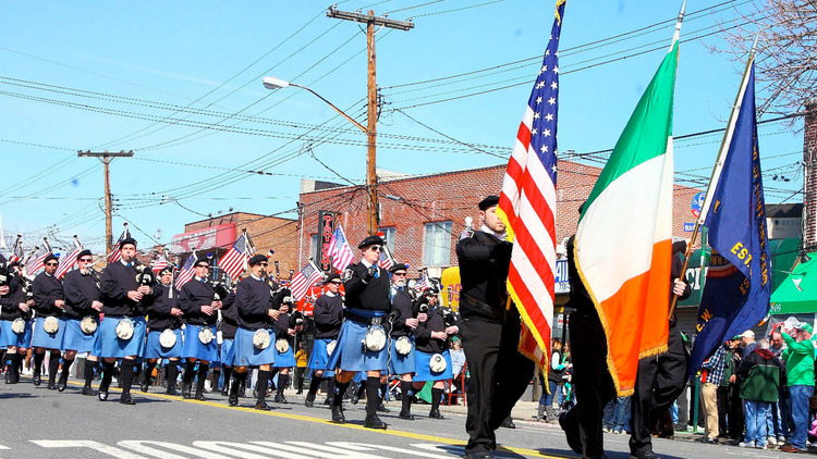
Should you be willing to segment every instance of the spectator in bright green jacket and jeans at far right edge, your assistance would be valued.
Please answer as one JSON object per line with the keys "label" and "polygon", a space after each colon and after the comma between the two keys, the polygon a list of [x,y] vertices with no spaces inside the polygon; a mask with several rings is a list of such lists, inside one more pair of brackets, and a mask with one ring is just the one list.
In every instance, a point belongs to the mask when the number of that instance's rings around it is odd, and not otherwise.
{"label": "spectator in bright green jacket and jeans at far right edge", "polygon": [[801,323],[793,330],[783,331],[783,339],[789,346],[783,350],[789,398],[792,404],[794,432],[789,437],[790,445],[780,448],[785,452],[806,450],[806,434],[809,427],[808,399],[814,395],[814,361],[817,348],[812,342],[812,325]]}

